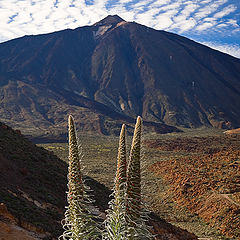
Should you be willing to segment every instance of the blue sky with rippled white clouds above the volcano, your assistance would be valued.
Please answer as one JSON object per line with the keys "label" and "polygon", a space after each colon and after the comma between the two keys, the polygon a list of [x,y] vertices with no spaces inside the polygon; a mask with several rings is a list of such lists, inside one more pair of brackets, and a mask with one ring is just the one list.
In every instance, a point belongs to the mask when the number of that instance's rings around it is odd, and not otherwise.
{"label": "blue sky with rippled white clouds above the volcano", "polygon": [[0,0],[0,42],[117,14],[240,58],[240,0]]}

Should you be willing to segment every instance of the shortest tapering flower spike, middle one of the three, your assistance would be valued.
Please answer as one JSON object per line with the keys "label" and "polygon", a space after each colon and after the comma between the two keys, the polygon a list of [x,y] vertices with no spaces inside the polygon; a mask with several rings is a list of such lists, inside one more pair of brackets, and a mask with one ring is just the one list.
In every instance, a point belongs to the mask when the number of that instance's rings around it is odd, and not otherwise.
{"label": "shortest tapering flower spike, middle one of the three", "polygon": [[117,171],[113,189],[114,199],[109,203],[103,239],[126,240],[125,189],[126,189],[126,126],[122,125],[119,137]]}

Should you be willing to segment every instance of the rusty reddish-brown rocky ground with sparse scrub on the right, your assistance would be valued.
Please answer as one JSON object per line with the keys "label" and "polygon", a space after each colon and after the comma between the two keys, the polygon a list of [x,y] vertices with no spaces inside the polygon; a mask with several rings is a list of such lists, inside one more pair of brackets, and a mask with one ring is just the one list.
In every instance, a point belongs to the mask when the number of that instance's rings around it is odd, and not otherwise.
{"label": "rusty reddish-brown rocky ground with sparse scrub on the right", "polygon": [[[240,237],[239,136],[151,140],[148,147],[185,156],[150,168],[169,184],[168,196],[231,239]],[[186,155],[187,153],[187,155]]]}

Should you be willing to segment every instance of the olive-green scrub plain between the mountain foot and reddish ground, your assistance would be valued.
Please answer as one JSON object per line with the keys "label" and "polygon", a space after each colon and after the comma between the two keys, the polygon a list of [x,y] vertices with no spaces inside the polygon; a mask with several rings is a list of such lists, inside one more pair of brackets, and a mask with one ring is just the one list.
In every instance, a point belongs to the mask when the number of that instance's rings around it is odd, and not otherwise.
{"label": "olive-green scrub plain between the mountain foot and reddish ground", "polygon": [[[171,133],[165,135],[144,134],[143,149],[144,156],[147,159],[147,165],[170,159],[178,159],[190,157],[192,155],[207,154],[207,152],[222,152],[232,146],[234,149],[240,149],[239,137],[226,136],[222,130],[212,128],[199,129],[183,129],[183,133]],[[161,139],[161,140],[160,140]],[[177,140],[178,139],[178,140]],[[154,142],[158,141],[158,145],[154,146]],[[100,181],[109,188],[113,188],[114,171],[116,167],[115,158],[117,156],[118,138],[114,136],[98,136],[98,138],[89,135],[81,135],[81,142],[86,152],[84,164],[88,169],[88,175]],[[192,142],[192,143],[191,143]],[[130,149],[131,138],[127,137],[127,151]],[[151,147],[151,144],[153,147]],[[178,144],[176,149],[172,149],[171,143]],[[149,145],[150,144],[150,145]],[[168,144],[168,146],[163,146]],[[198,152],[194,146],[198,147]],[[181,147],[184,146],[185,147]],[[65,143],[41,144],[46,148],[52,147],[60,158],[66,160],[68,147]],[[160,148],[161,147],[161,148]],[[177,150],[178,148],[178,150]],[[64,150],[65,149],[65,150]],[[102,166],[102,171],[96,169],[96,163]],[[211,167],[211,165],[209,166]],[[226,169],[227,170],[227,169]],[[171,194],[171,183],[164,179],[162,175],[155,174],[148,168],[145,182],[147,187],[144,188],[143,201],[151,206],[151,210],[157,213],[161,218],[165,219],[176,226],[187,229],[195,233],[199,237],[209,237],[214,240],[228,239],[217,231],[214,224],[210,225],[205,220],[199,218],[198,214],[192,212],[185,206],[173,199]],[[214,169],[212,169],[214,171]],[[225,174],[228,176],[228,174]],[[209,181],[209,180],[207,180]],[[221,181],[220,181],[221,183]],[[224,183],[222,183],[224,185]],[[233,199],[239,201],[234,194]],[[239,215],[238,215],[239,216]],[[183,238],[184,239],[184,238]],[[231,238],[234,239],[234,238]],[[236,239],[236,238],[235,238]]]}

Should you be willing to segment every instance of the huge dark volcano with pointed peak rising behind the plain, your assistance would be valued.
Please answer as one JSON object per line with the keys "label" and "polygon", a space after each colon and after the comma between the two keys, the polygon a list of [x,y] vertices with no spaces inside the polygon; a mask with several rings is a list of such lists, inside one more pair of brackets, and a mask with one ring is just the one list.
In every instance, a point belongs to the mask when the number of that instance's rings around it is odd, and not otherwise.
{"label": "huge dark volcano with pointed peak rising behind the plain", "polygon": [[0,120],[21,129],[62,129],[67,113],[104,134],[137,115],[158,129],[240,125],[239,59],[118,16],[2,43],[0,56]]}

